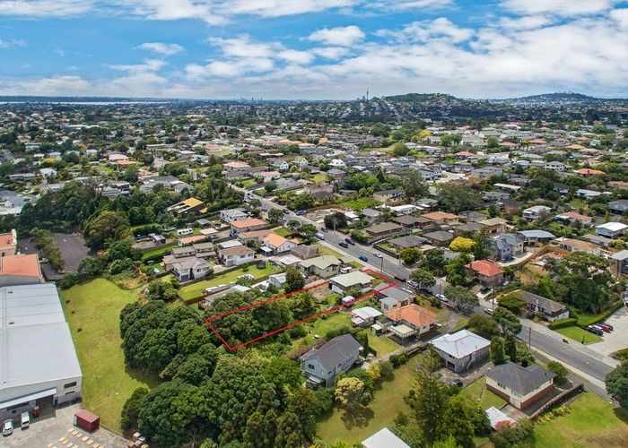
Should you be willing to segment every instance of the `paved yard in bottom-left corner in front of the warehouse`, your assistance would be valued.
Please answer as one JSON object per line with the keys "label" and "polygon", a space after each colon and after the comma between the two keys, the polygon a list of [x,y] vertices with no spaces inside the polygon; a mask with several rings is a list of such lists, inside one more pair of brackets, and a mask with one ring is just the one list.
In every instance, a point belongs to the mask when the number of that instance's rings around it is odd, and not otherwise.
{"label": "paved yard in bottom-left corner in front of the warehouse", "polygon": [[33,448],[126,447],[127,441],[108,429],[100,427],[90,434],[74,426],[74,412],[79,409],[80,403],[61,409],[42,409],[41,417],[31,417],[31,426],[21,429],[17,423],[13,434],[3,436],[0,445]]}

